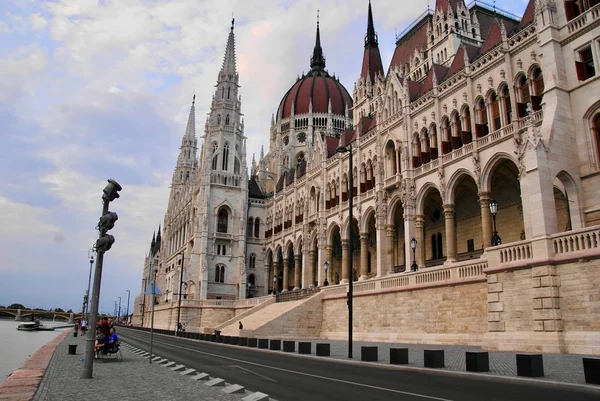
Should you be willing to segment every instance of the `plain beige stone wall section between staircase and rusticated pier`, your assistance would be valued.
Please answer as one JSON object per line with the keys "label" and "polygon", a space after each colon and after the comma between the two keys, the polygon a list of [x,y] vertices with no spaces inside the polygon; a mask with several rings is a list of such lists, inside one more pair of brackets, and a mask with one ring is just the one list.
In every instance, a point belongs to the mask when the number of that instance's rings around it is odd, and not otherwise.
{"label": "plain beige stone wall section between staircase and rusticated pier", "polygon": [[[322,338],[348,338],[346,298],[323,302]],[[354,297],[354,338],[481,344],[487,331],[485,282]]]}

